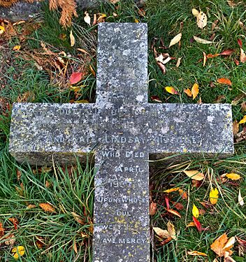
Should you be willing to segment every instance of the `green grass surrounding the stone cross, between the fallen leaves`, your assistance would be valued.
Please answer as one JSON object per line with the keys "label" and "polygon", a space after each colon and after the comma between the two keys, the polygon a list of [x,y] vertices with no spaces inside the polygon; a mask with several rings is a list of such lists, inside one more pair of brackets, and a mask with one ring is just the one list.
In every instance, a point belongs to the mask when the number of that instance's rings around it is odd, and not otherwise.
{"label": "green grass surrounding the stone cross, between the fallen leaves", "polygon": [[[141,16],[133,1],[121,1],[116,6],[105,4],[97,10],[89,10],[89,13],[91,16],[94,13],[105,13],[107,22],[138,20],[148,23],[150,98],[159,96],[164,103],[197,103],[201,97],[203,103],[216,103],[219,96],[224,96],[222,103],[232,104],[233,120],[239,121],[245,115],[241,103],[246,102],[246,63],[237,66],[234,59],[239,59],[238,38],[243,41],[246,50],[246,13],[245,3],[234,3],[238,5],[231,8],[224,0],[151,0],[145,7],[146,15]],[[201,8],[207,13],[208,26],[205,29],[198,29],[191,8]],[[27,26],[17,26],[20,34],[23,34],[24,29],[31,31],[26,41],[21,41],[20,36],[13,36],[1,46],[0,223],[6,229],[4,232],[15,239],[15,243],[7,245],[6,239],[0,238],[2,261],[14,261],[11,249],[16,245],[23,245],[26,250],[20,261],[92,261],[94,169],[89,163],[82,166],[79,161],[74,167],[36,168],[20,165],[8,154],[10,105],[13,102],[68,103],[82,99],[89,102],[95,100],[96,78],[91,68],[96,70],[96,26],[88,27],[81,18],[82,11],[79,10],[78,14],[79,18],[73,21],[71,28],[76,38],[73,48],[69,41],[71,29],[62,29],[59,26],[59,13],[50,13],[47,5],[43,6],[43,14],[35,21],[37,27],[32,26],[34,21]],[[212,30],[215,20],[219,22],[216,29]],[[164,51],[159,48],[162,42],[168,46],[180,31],[180,48],[178,45]],[[191,41],[194,35],[209,39],[213,31],[215,39],[211,45]],[[66,52],[66,55],[61,55],[68,63],[66,72],[59,74],[53,57],[47,59],[47,56],[36,53],[43,52],[41,42],[52,52]],[[13,52],[13,46],[18,44],[22,45],[22,51]],[[182,57],[180,66],[176,68],[177,60],[172,60],[166,64],[166,75],[161,73],[154,59],[152,45],[159,53],[168,52],[171,57]],[[77,48],[86,50],[89,57]],[[229,48],[236,50],[230,57],[208,59],[203,67],[203,52],[215,54]],[[43,70],[38,70],[37,63],[43,66]],[[86,77],[80,83],[83,87],[74,92],[69,88],[68,78],[76,70],[84,70]],[[229,78],[233,83],[232,88],[219,85],[217,78]],[[211,81],[214,87],[210,87]],[[198,98],[192,100],[184,94],[183,89],[191,88],[195,82],[198,82],[200,92]],[[175,87],[179,95],[165,92],[166,86]],[[240,126],[242,130],[243,125]],[[216,255],[210,245],[219,235],[226,232],[229,237],[238,235],[246,238],[245,207],[238,205],[239,189],[242,196],[246,195],[245,140],[235,143],[235,149],[236,154],[224,160],[201,158],[178,166],[159,163],[158,167],[150,168],[152,201],[157,203],[157,213],[151,217],[150,228],[158,226],[166,229],[167,221],[171,220],[178,234],[177,241],[172,240],[166,245],[161,245],[156,237],[152,238],[153,262],[206,261],[201,256],[187,255],[190,250],[205,252],[208,254],[207,261],[213,261]],[[205,174],[200,187],[182,173],[187,166],[190,170],[202,170]],[[238,173],[242,179],[222,183],[219,176],[224,173]],[[178,192],[164,194],[164,190],[171,187],[182,187],[189,192],[188,200],[182,199]],[[219,201],[214,208],[204,208],[201,203],[208,201],[211,187],[219,189]],[[182,219],[166,212],[165,196],[170,198],[171,208],[175,209],[175,202],[184,206],[179,210]],[[50,203],[55,207],[55,212],[44,212],[39,207],[40,203]],[[198,233],[196,228],[186,227],[192,221],[193,203],[205,210],[199,221],[204,228],[208,227],[208,231]],[[35,207],[27,209],[28,205]],[[9,220],[13,217],[18,221],[17,226]],[[233,247],[233,251],[233,259],[245,261],[245,255],[238,253],[238,245]]]}

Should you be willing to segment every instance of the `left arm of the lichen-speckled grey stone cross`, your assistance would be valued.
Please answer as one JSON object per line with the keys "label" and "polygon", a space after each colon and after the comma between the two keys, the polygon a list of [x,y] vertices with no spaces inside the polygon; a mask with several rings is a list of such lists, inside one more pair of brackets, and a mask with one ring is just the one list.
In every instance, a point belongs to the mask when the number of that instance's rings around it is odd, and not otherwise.
{"label": "left arm of the lichen-speckled grey stone cross", "polygon": [[10,154],[17,161],[74,163],[96,145],[94,104],[14,103]]}

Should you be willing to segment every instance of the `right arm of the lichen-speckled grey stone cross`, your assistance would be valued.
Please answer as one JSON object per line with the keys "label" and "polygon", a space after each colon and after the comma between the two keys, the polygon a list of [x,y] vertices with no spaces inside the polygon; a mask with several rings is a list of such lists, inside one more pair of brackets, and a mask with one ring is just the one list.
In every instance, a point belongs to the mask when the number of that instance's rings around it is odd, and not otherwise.
{"label": "right arm of the lichen-speckled grey stone cross", "polygon": [[153,158],[191,153],[229,157],[234,152],[229,104],[149,104]]}

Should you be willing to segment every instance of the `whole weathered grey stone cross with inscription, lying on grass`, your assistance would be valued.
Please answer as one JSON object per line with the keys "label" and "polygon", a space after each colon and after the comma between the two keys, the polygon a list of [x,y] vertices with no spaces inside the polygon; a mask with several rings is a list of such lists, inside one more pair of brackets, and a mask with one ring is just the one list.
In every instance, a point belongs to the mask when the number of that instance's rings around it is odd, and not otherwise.
{"label": "whole weathered grey stone cross with inscription, lying on grass", "polygon": [[153,104],[147,24],[99,24],[96,103],[15,103],[17,161],[75,163],[95,152],[94,262],[150,261],[149,157],[233,154],[231,105]]}

